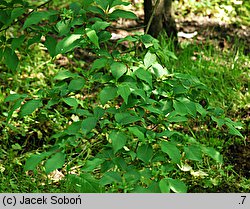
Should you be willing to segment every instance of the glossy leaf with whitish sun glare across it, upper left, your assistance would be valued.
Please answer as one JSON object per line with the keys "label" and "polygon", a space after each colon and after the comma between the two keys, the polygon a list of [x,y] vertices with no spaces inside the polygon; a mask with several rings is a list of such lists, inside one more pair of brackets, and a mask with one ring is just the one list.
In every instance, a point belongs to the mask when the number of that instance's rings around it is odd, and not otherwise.
{"label": "glossy leaf with whitish sun glare across it, upper left", "polygon": [[81,34],[70,34],[56,45],[55,54],[64,54],[79,46]]}

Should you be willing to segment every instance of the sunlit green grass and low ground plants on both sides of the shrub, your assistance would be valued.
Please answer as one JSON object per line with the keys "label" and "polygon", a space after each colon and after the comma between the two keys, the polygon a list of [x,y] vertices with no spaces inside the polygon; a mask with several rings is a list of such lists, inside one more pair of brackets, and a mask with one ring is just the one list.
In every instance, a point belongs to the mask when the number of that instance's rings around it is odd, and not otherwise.
{"label": "sunlit green grass and low ground plants on both sides of the shrub", "polygon": [[[174,50],[173,43],[166,41],[166,37],[161,39],[161,45],[166,50]],[[243,122],[242,132],[247,135],[249,118],[242,120],[242,115],[238,114],[248,110],[250,99],[250,57],[244,55],[243,51],[243,43],[236,43],[232,48],[222,51],[216,44],[186,42],[175,52],[178,59],[165,60],[164,64],[170,72],[197,76],[207,86],[208,90],[202,93],[203,98],[208,100],[208,106],[218,106],[233,120]],[[48,112],[49,120],[44,123],[36,123],[35,114],[24,120],[18,120],[16,114],[14,120],[6,126],[5,120],[10,106],[3,102],[4,98],[11,92],[36,95],[40,89],[53,85],[53,76],[61,68],[53,64],[40,46],[32,46],[27,54],[22,54],[20,70],[17,73],[1,66],[0,81],[3,85],[0,88],[0,192],[75,192],[67,178],[60,182],[53,181],[47,178],[42,167],[36,173],[25,173],[23,170],[28,156],[46,150],[52,144],[50,136],[65,127],[68,121],[65,121],[59,111]],[[75,62],[76,66],[82,66],[80,61]],[[72,66],[69,63],[65,68]],[[173,174],[186,180],[189,192],[249,192],[250,180],[235,170],[227,156],[231,145],[243,146],[246,141],[237,137],[228,138],[223,130],[219,131],[209,121],[199,124],[192,121],[187,127],[189,129],[183,131],[193,134],[202,144],[215,147],[223,154],[225,162],[224,165],[215,165],[210,158],[205,158],[203,163],[192,165],[197,173]],[[81,150],[81,147],[77,149]],[[74,158],[70,160],[73,161]],[[115,189],[117,188],[114,191]]]}

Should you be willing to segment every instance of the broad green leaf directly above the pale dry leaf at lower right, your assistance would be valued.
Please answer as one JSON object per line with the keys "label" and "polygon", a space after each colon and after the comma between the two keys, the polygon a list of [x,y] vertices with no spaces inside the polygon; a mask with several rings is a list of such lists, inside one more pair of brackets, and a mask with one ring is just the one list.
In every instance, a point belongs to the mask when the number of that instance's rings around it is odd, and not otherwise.
{"label": "broad green leaf directly above the pale dry leaf at lower right", "polygon": [[181,154],[180,150],[172,142],[163,141],[161,142],[161,150],[168,154],[170,159],[174,163],[180,164]]}

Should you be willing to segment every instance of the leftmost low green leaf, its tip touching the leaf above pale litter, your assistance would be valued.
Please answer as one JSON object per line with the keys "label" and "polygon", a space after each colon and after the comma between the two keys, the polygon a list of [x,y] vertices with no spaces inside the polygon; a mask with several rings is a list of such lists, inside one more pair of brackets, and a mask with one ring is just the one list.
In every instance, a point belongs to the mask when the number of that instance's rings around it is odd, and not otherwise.
{"label": "leftmost low green leaf, its tip touching the leaf above pale litter", "polygon": [[46,157],[50,156],[51,152],[44,152],[42,154],[33,154],[25,162],[25,171],[34,171],[38,164],[44,160]]}

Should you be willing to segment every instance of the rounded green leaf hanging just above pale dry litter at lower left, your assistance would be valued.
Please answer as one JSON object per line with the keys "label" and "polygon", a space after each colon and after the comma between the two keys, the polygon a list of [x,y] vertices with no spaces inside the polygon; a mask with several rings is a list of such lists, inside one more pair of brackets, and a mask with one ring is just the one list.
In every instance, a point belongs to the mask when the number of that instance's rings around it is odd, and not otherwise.
{"label": "rounded green leaf hanging just above pale dry litter at lower left", "polygon": [[62,168],[65,163],[65,154],[62,152],[57,152],[52,155],[45,163],[45,172],[49,174],[50,172]]}

